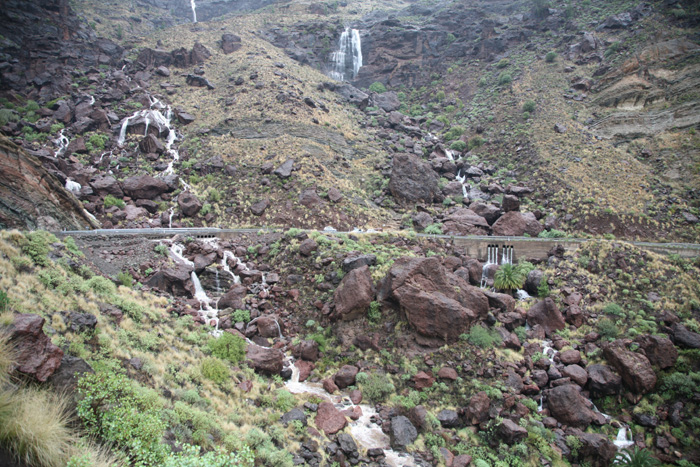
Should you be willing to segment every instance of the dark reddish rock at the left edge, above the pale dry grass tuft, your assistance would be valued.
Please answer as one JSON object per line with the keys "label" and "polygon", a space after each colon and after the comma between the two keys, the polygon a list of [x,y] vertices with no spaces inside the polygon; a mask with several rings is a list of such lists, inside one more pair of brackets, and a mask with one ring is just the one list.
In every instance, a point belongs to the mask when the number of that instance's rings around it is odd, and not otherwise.
{"label": "dark reddish rock at the left edge, above the pale dry grass tuft", "polygon": [[9,327],[13,346],[13,370],[32,376],[42,383],[61,365],[63,350],[44,334],[44,318],[35,314],[16,314]]}

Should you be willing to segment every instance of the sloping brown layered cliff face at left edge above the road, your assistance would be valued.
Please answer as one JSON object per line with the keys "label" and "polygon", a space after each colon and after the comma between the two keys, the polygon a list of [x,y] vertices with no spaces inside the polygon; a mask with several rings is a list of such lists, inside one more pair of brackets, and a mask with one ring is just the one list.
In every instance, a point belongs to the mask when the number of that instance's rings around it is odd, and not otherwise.
{"label": "sloping brown layered cliff face at left edge above the road", "polygon": [[0,228],[96,227],[81,204],[39,159],[0,137]]}

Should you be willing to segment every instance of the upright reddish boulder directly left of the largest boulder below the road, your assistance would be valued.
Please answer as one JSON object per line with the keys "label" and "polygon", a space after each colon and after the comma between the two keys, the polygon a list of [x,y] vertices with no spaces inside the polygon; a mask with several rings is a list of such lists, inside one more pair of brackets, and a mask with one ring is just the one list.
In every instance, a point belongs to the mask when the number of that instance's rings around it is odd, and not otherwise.
{"label": "upright reddish boulder directly left of the largest boulder below the road", "polygon": [[364,315],[375,292],[369,267],[353,269],[343,277],[333,295],[336,316],[349,321]]}

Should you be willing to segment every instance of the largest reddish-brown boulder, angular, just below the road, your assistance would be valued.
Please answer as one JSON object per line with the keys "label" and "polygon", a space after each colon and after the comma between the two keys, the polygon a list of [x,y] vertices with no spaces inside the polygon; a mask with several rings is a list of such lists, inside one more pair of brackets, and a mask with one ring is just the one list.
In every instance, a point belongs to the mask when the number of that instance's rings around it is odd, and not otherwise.
{"label": "largest reddish-brown boulder, angular, just below the road", "polygon": [[489,300],[477,287],[448,272],[436,257],[399,258],[378,293],[398,303],[421,335],[456,340],[489,311]]}

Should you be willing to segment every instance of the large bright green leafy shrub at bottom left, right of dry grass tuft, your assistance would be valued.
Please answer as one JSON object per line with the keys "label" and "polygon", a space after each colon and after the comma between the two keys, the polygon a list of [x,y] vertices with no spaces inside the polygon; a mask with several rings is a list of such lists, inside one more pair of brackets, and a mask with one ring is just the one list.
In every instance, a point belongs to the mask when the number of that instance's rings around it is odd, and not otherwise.
{"label": "large bright green leafy shrub at bottom left, right of dry grass tuft", "polygon": [[85,430],[125,451],[135,466],[159,465],[170,448],[158,394],[109,371],[86,374],[78,383],[77,413]]}

